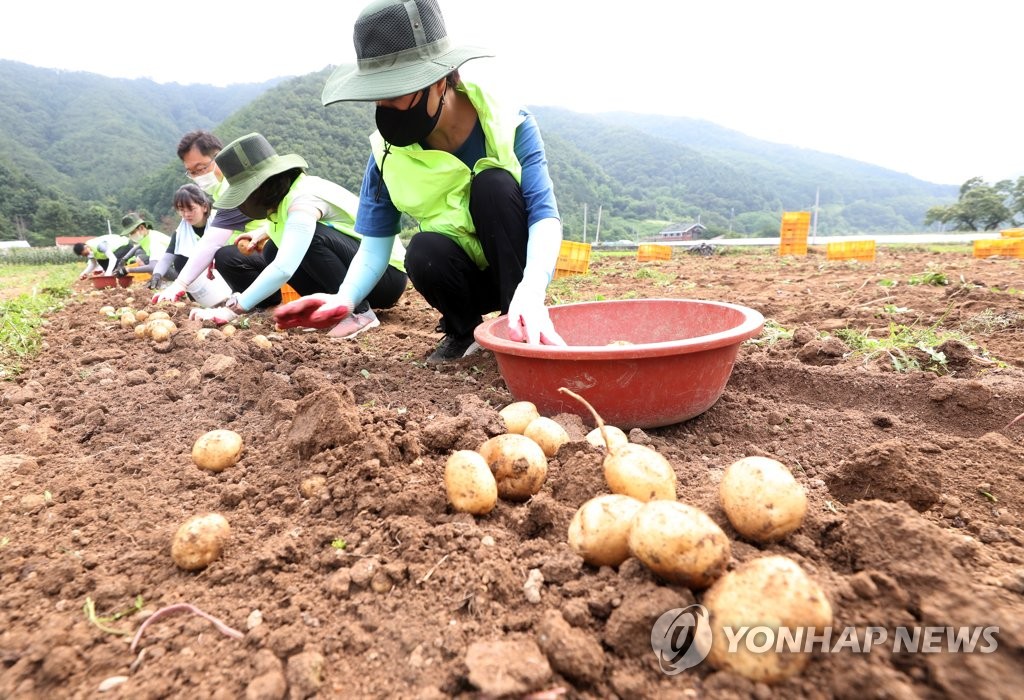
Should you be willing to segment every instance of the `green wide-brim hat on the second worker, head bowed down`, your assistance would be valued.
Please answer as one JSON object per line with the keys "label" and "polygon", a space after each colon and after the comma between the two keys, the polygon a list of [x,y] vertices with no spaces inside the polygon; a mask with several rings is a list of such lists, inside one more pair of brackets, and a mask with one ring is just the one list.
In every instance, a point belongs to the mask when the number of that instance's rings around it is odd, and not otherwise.
{"label": "green wide-brim hat on the second worker, head bowed down", "polygon": [[234,209],[249,199],[267,178],[292,168],[308,166],[301,156],[279,156],[262,134],[251,133],[234,139],[214,161],[227,180],[227,189],[213,202],[217,209]]}

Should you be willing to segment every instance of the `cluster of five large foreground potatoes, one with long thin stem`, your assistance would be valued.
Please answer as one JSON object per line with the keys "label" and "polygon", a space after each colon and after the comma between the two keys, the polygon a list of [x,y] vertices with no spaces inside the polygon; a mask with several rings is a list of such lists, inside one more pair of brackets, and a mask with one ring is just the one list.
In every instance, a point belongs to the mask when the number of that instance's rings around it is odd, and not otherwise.
{"label": "cluster of five large foreground potatoes, one with long thin stem", "polygon": [[[569,523],[568,541],[594,566],[618,566],[635,557],[660,578],[695,590],[707,588],[712,645],[708,660],[758,682],[772,683],[799,673],[808,653],[774,649],[753,653],[740,645],[728,651],[724,627],[770,623],[820,631],[831,624],[831,607],[821,587],[783,556],[761,557],[726,571],[731,560],[728,536],[698,508],[676,500],[676,477],[655,450],[630,444],[622,431],[597,422],[588,440],[605,447],[604,477],[610,493],[583,504]],[[807,493],[782,463],[746,456],[732,463],[719,485],[719,502],[744,539],[776,542],[803,524]]]}

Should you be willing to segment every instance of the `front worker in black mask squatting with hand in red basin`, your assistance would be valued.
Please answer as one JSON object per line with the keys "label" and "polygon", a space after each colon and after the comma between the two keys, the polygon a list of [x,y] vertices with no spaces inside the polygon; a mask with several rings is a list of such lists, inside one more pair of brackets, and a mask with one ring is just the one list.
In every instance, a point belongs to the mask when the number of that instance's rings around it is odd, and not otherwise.
{"label": "front worker in black mask squatting with hand in red basin", "polygon": [[355,221],[362,240],[338,293],[279,307],[279,324],[345,317],[379,278],[406,213],[419,222],[409,277],[444,333],[429,363],[478,349],[473,330],[492,311],[508,315],[513,340],[564,345],[545,306],[562,231],[532,115],[461,80],[462,63],[490,54],[453,46],[434,0],[376,0],[353,37],[357,64],[331,76],[323,102],[377,104]]}

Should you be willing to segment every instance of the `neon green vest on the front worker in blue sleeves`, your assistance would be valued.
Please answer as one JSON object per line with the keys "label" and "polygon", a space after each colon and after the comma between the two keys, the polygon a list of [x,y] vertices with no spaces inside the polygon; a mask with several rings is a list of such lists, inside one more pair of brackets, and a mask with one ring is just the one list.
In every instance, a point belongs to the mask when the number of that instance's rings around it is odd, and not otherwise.
{"label": "neon green vest on the front worker in blue sleeves", "polygon": [[456,89],[469,97],[483,128],[486,155],[472,170],[447,151],[424,149],[418,143],[389,145],[385,160],[386,144],[379,131],[370,135],[370,145],[395,208],[415,218],[421,231],[436,231],[455,240],[482,270],[487,259],[469,215],[469,187],[473,176],[488,168],[507,170],[521,183],[515,130],[525,117],[473,83],[460,83]]}

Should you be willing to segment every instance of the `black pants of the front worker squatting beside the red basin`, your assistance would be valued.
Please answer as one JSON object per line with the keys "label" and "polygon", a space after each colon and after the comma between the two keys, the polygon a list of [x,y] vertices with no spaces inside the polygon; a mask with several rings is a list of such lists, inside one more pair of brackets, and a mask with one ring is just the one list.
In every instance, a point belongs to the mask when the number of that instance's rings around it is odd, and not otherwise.
{"label": "black pants of the front worker squatting beside the red basin", "polygon": [[452,238],[434,231],[415,234],[406,251],[413,287],[440,311],[444,333],[455,336],[472,333],[484,313],[508,313],[526,266],[526,202],[508,171],[493,168],[473,178],[469,214],[486,269],[479,269]]}

